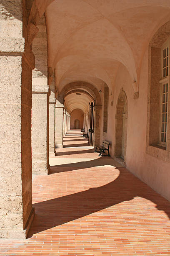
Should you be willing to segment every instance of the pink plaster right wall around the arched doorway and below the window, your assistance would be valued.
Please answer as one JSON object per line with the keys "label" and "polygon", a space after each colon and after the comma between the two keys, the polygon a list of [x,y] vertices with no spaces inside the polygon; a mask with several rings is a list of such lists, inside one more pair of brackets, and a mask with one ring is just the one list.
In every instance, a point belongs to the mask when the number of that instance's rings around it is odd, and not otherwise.
{"label": "pink plaster right wall around the arched doorway and below the window", "polygon": [[101,140],[111,142],[110,154],[114,157],[115,146],[115,113],[117,98],[123,87],[128,99],[128,133],[126,150],[126,168],[159,194],[170,200],[170,163],[146,154],[147,127],[147,90],[148,90],[148,49],[145,52],[140,70],[139,98],[133,99],[133,87],[129,73],[122,64],[117,72],[113,85],[113,106],[109,96],[107,135]]}

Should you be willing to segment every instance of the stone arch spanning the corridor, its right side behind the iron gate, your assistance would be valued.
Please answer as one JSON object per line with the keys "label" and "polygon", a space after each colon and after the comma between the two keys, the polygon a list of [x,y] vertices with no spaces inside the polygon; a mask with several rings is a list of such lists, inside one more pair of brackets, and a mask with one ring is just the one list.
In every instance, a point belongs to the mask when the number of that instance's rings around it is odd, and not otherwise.
{"label": "stone arch spanning the corridor, its right side behind the iron gate", "polygon": [[102,101],[100,94],[97,88],[89,84],[87,82],[72,82],[66,84],[65,87],[62,88],[61,92],[58,95],[58,99],[63,103],[65,95],[72,90],[87,90],[87,92],[94,98],[95,100],[95,132],[94,132],[94,143],[100,144],[100,110],[102,107]]}

